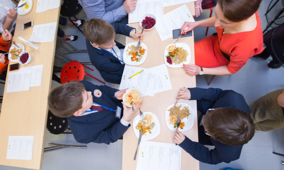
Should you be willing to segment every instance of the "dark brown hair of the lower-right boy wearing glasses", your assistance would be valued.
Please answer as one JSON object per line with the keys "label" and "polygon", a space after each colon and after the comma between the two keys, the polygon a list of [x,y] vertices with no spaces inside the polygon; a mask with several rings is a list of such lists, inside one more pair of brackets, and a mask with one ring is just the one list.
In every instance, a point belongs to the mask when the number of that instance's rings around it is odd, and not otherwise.
{"label": "dark brown hair of the lower-right boy wearing glasses", "polygon": [[235,108],[217,108],[204,115],[203,126],[209,135],[223,144],[241,146],[254,136],[249,114]]}

